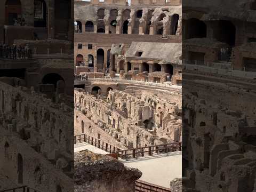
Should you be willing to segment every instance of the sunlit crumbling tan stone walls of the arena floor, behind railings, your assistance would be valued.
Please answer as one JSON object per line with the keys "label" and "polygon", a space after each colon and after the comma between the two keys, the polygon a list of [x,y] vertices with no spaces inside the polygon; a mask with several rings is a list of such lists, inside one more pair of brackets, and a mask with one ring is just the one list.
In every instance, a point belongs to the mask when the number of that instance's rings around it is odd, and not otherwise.
{"label": "sunlit crumbling tan stone walls of the arena floor, behind railings", "polygon": [[[171,94],[173,101],[160,99],[147,91],[109,90],[108,97],[98,99],[91,94],[75,91],[75,106],[93,123],[84,124],[84,132],[98,137],[97,130],[108,142],[114,138],[123,148],[145,147],[181,139],[180,95]],[[81,118],[81,119],[79,119]],[[77,127],[82,126],[83,115],[75,119]],[[90,122],[89,121],[89,122]],[[93,124],[93,125],[92,125]],[[85,129],[88,129],[85,131]],[[95,135],[95,133],[97,134]],[[102,131],[101,131],[102,132]],[[106,141],[107,142],[107,141]]]}

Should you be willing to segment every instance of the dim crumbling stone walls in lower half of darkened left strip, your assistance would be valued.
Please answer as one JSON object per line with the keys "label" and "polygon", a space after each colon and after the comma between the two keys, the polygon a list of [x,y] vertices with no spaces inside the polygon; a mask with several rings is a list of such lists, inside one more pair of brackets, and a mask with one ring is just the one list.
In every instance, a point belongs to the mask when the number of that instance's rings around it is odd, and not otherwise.
{"label": "dim crumbling stone walls in lower half of darkened left strip", "polygon": [[[26,174],[23,173],[24,181],[22,183],[30,183],[36,187],[38,185],[39,188],[45,190],[43,183],[47,182],[47,179],[41,178],[41,180],[38,176],[35,178],[36,181],[35,179],[30,180],[30,177],[35,177],[32,170],[36,164],[31,166],[30,162],[32,163],[33,160],[30,161],[29,158],[35,158],[35,162],[43,159],[40,161],[56,167],[60,171],[59,174],[65,173],[66,177],[71,177],[74,143],[73,138],[68,135],[74,134],[73,110],[65,103],[52,103],[50,99],[44,98],[42,94],[36,93],[33,89],[30,90],[21,86],[13,87],[3,82],[0,82],[0,95],[1,126],[4,130],[1,137],[3,138],[1,150],[5,151],[6,146],[11,146],[14,150],[14,152],[8,150],[7,155],[1,156],[1,161],[5,162],[1,164],[1,169],[5,169],[7,162],[12,166],[9,167],[10,170],[7,169],[4,173],[6,175],[10,173],[10,178],[16,180],[17,158],[14,157],[21,153],[25,163],[23,167],[26,167],[28,171]],[[5,141],[7,144],[4,143]],[[19,147],[19,141],[24,143],[22,148]],[[34,149],[34,152],[30,155],[28,151],[31,149]],[[35,154],[37,155],[34,156]],[[43,165],[43,162],[38,162],[38,169],[44,169],[43,166],[47,166]],[[42,174],[51,174],[49,172],[51,172],[50,168]],[[52,179],[52,185],[57,185],[59,179]],[[53,189],[51,188],[51,190]],[[67,187],[65,190],[69,191],[68,189]],[[49,191],[51,190],[49,189]]]}

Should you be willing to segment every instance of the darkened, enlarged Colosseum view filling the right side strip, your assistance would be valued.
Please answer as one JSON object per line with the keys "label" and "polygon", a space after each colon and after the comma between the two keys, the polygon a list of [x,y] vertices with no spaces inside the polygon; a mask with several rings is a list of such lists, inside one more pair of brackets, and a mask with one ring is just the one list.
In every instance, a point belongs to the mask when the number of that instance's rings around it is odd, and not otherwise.
{"label": "darkened, enlarged Colosseum view filling the right side strip", "polygon": [[256,2],[182,2],[187,191],[255,191]]}

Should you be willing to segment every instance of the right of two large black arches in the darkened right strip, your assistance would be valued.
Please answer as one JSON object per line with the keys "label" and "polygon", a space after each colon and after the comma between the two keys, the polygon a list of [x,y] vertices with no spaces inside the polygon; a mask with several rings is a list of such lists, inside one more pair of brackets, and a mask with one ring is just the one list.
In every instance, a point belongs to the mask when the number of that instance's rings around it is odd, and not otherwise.
{"label": "right of two large black arches in the darkened right strip", "polygon": [[227,20],[219,20],[218,30],[214,31],[214,38],[220,42],[225,42],[230,46],[235,46],[236,43],[236,27]]}

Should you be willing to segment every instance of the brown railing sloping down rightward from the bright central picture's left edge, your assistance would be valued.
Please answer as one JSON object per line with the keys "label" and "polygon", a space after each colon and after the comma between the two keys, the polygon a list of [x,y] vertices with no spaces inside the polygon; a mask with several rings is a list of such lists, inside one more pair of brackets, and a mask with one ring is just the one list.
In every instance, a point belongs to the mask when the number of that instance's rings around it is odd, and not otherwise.
{"label": "brown railing sloping down rightward from the bright central picture's left edge", "polygon": [[114,145],[110,145],[109,143],[102,141],[97,138],[93,138],[90,135],[86,134],[80,134],[80,135],[75,135],[74,136],[74,143],[77,145],[78,143],[89,143],[92,146],[95,146],[99,149],[105,150],[108,153],[116,153],[118,150],[122,150]]}

